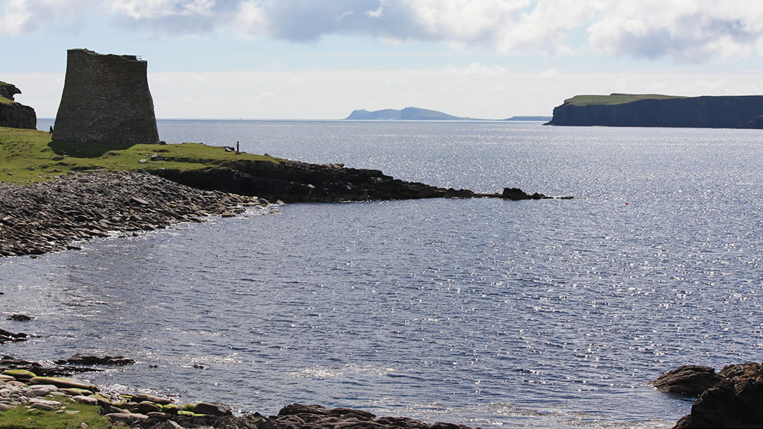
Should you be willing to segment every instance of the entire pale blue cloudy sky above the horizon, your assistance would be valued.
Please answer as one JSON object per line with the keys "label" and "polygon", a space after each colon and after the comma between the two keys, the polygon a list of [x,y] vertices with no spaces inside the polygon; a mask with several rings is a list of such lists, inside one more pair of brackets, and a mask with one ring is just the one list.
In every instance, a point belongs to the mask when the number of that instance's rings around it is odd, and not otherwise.
{"label": "entire pale blue cloudy sky above the horizon", "polygon": [[0,81],[55,117],[66,50],[141,56],[158,118],[552,114],[761,94],[760,0],[0,0]]}

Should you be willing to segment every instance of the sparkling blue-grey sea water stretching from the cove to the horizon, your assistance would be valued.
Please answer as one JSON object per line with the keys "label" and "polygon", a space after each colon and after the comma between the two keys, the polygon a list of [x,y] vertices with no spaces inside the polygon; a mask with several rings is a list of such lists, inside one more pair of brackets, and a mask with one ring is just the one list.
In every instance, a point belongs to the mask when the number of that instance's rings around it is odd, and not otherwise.
{"label": "sparkling blue-grey sea water stretching from the cove to the horizon", "polygon": [[[3,354],[263,414],[291,402],[488,427],[670,427],[646,382],[763,348],[755,130],[159,121],[202,141],[575,200],[290,204],[0,260]],[[5,318],[3,318],[5,319]],[[194,367],[196,364],[196,367]],[[158,366],[153,368],[151,366]],[[203,368],[199,368],[203,366]]]}

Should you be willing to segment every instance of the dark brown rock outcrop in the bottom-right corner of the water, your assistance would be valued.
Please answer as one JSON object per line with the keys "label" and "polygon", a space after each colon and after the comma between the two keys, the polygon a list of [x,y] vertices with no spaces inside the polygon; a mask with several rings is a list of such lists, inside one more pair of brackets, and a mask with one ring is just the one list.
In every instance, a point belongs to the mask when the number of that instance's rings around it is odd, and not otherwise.
{"label": "dark brown rock outcrop in the bottom-right corner of the water", "polygon": [[[710,367],[685,366],[651,383],[662,392],[697,395],[691,413],[674,429],[689,427],[763,427],[763,365],[727,365],[717,374]],[[704,389],[703,389],[704,388]]]}

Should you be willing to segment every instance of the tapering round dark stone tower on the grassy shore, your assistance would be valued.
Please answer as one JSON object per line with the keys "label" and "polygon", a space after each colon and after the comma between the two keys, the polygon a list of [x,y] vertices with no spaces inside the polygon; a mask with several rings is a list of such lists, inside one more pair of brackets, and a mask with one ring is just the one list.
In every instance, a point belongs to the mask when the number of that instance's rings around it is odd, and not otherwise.
{"label": "tapering round dark stone tower on the grassy shore", "polygon": [[159,142],[146,66],[136,56],[69,50],[53,140]]}

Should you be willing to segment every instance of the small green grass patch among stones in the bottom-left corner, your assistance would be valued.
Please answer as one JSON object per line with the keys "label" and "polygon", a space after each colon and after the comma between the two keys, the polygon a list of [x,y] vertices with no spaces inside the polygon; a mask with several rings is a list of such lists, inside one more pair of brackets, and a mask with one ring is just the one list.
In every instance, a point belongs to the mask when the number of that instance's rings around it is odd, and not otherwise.
{"label": "small green grass patch among stones in the bottom-left corner", "polygon": [[87,424],[88,429],[108,429],[108,421],[101,416],[97,405],[84,405],[61,396],[52,399],[66,405],[66,411],[79,411],[77,414],[56,413],[24,406],[0,411],[0,429],[80,429],[80,424]]}

